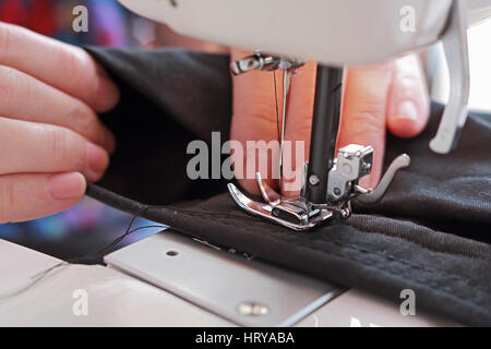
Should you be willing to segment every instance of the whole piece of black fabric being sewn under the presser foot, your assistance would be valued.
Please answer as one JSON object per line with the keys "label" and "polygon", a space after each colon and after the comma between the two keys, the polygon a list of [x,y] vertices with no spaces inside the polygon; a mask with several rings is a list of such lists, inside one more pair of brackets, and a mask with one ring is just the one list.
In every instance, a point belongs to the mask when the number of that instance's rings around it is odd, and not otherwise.
{"label": "whole piece of black fabric being sewn under the presser foot", "polygon": [[[189,140],[209,141],[212,131],[228,132],[227,57],[89,51],[118,81],[123,98],[103,116],[119,151],[101,185],[89,185],[88,195],[185,234],[397,302],[409,288],[417,309],[463,324],[491,325],[489,119],[470,116],[458,149],[435,155],[428,142],[443,107],[432,104],[423,134],[411,140],[388,136],[385,163],[408,153],[411,166],[397,174],[381,203],[356,205],[346,221],[294,232],[243,213],[225,193],[223,181],[185,177]],[[148,139],[147,132],[157,136]],[[173,158],[178,160],[164,161]],[[143,168],[124,172],[135,166]],[[156,173],[148,177],[148,168]],[[196,201],[200,196],[209,198]]]}

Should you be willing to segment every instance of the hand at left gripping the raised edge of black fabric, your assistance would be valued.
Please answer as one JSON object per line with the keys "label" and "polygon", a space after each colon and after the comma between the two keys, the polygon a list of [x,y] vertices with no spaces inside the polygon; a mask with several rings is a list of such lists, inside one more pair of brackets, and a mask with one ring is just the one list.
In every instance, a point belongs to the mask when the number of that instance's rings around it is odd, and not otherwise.
{"label": "hand at left gripping the raised edge of black fabric", "polygon": [[83,49],[0,23],[0,224],[79,202],[115,140],[96,112],[119,92]]}

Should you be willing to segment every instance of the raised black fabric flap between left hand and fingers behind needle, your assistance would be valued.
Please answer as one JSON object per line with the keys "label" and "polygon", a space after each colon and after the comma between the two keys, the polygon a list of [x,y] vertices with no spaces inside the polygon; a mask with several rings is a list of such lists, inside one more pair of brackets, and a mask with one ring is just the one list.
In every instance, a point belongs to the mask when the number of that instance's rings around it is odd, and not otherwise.
{"label": "raised black fabric flap between left hand and fingers behind needle", "polygon": [[86,48],[106,67],[122,103],[101,120],[117,135],[117,152],[100,185],[145,203],[205,198],[219,181],[191,181],[192,140],[228,139],[231,82],[228,56],[182,50]]}

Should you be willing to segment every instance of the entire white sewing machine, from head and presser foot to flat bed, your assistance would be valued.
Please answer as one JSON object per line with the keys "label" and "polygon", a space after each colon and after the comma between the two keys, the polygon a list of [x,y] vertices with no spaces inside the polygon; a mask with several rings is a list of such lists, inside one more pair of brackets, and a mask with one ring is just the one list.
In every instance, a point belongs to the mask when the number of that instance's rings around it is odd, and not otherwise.
{"label": "entire white sewing machine, from head and presser foot to flat bed", "polygon": [[[235,200],[248,212],[298,230],[327,221],[334,213],[349,215],[350,200],[379,200],[396,170],[409,163],[406,155],[396,158],[381,184],[371,191],[358,185],[358,180],[370,172],[371,147],[350,145],[339,149],[334,158],[339,67],[387,59],[442,39],[452,81],[451,103],[430,147],[447,153],[466,117],[467,13],[469,22],[476,22],[491,12],[489,0],[302,0],[297,7],[300,1],[295,0],[120,1],[185,35],[232,47],[261,47],[262,51],[232,63],[236,74],[251,69],[279,69],[285,71],[288,85],[288,75],[306,59],[323,64],[318,72],[312,155],[306,166],[300,200],[278,201],[260,176],[258,183],[267,204],[251,201],[230,186]],[[423,31],[399,31],[399,10],[406,5],[412,7]],[[350,19],[349,23],[346,19]],[[356,169],[356,176],[346,176],[345,167]],[[28,285],[33,275],[61,262],[1,240],[0,251],[4,261],[0,264],[0,294],[9,294],[12,287],[15,291],[16,285]],[[419,310],[418,316],[403,316],[399,304],[232,254],[176,232],[142,240],[105,256],[105,262],[107,268],[67,266],[38,288],[0,303],[0,325],[455,325]],[[72,313],[77,290],[91,294],[91,316]]]}

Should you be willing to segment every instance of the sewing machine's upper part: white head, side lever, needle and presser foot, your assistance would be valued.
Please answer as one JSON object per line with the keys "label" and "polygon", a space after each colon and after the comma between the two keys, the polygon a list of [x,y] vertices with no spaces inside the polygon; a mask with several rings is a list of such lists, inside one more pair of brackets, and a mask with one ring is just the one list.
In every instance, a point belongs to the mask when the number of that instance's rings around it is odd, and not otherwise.
{"label": "sewing machine's upper part: white head, side lever, needle and presser foot", "polygon": [[[232,62],[231,72],[284,71],[283,131],[291,74],[308,59],[319,61],[310,158],[304,164],[300,197],[284,200],[259,172],[256,182],[265,203],[248,197],[232,183],[228,185],[241,208],[295,230],[308,230],[333,216],[349,217],[352,200],[375,203],[397,170],[410,163],[408,155],[400,155],[375,189],[364,189],[358,181],[371,172],[373,148],[350,144],[335,154],[343,67],[383,61],[441,40],[451,77],[450,103],[429,146],[446,154],[456,146],[467,118],[468,16],[470,22],[480,21],[491,10],[491,2],[481,0],[120,2],[183,35],[229,47],[260,47],[261,51]],[[404,21],[412,21],[414,27],[405,26]]]}

